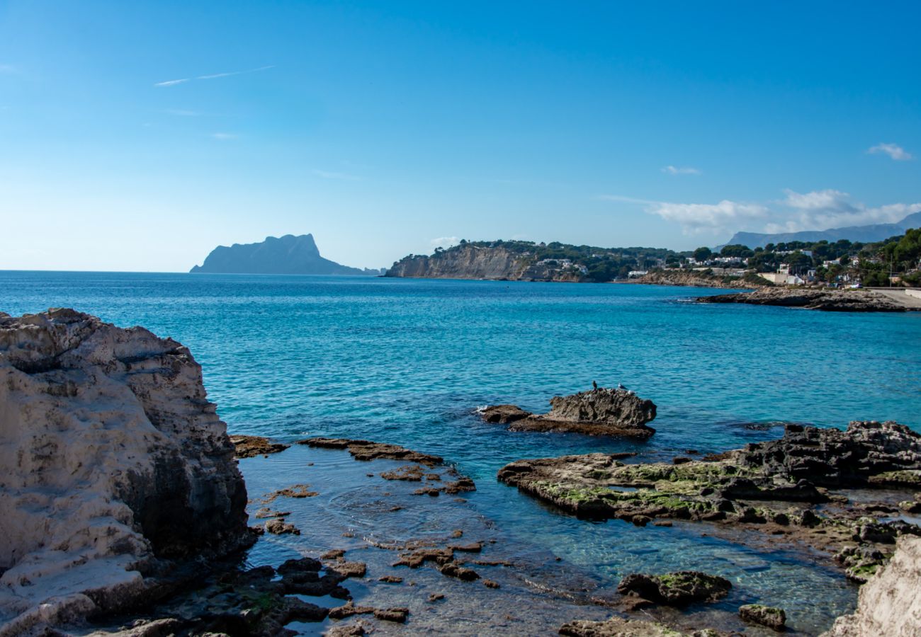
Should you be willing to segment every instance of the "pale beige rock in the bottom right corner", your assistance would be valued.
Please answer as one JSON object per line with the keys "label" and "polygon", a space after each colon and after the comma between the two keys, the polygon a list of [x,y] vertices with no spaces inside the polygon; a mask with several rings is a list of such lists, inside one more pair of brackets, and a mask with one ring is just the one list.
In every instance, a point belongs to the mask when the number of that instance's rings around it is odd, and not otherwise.
{"label": "pale beige rock in the bottom right corner", "polygon": [[914,637],[921,633],[921,538],[901,538],[892,560],[861,586],[857,611],[822,637]]}

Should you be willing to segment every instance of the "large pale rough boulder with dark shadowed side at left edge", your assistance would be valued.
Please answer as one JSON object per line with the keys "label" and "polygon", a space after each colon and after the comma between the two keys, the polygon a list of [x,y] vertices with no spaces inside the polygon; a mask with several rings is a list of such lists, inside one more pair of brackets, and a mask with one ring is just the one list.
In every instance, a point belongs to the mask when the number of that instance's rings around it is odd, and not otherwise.
{"label": "large pale rough boulder with dark shadowed side at left edge", "polygon": [[251,542],[180,343],[71,309],[0,314],[0,379],[0,635],[150,600],[173,561]]}

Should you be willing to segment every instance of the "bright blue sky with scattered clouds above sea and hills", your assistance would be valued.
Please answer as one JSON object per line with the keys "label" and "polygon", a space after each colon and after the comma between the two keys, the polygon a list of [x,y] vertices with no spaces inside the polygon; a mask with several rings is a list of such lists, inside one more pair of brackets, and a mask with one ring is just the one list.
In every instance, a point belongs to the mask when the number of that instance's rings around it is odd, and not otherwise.
{"label": "bright blue sky with scattered clouds above sea and hills", "polygon": [[919,7],[0,1],[0,269],[898,220]]}

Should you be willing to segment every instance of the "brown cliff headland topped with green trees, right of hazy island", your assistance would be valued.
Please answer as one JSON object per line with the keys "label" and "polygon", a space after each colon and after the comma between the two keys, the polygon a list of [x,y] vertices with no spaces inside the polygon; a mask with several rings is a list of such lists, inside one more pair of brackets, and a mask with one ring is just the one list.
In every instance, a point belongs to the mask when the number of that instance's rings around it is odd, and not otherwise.
{"label": "brown cliff headland topped with green trees, right of hazy island", "polygon": [[493,279],[502,281],[581,281],[578,270],[554,263],[536,264],[508,249],[461,246],[432,256],[404,257],[384,276],[424,279]]}

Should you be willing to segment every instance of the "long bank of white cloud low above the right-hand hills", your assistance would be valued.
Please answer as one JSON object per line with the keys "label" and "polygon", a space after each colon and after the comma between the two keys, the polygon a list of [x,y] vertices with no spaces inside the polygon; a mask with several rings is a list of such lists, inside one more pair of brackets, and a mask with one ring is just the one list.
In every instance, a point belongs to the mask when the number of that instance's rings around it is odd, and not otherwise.
{"label": "long bank of white cloud low above the right-hand hills", "polygon": [[648,214],[682,226],[686,235],[726,235],[739,230],[797,232],[831,227],[889,224],[908,214],[921,212],[921,203],[891,203],[868,206],[853,202],[848,193],[836,190],[784,191],[784,199],[773,202],[673,203],[655,202],[622,195],[600,195],[597,199],[635,203]]}

